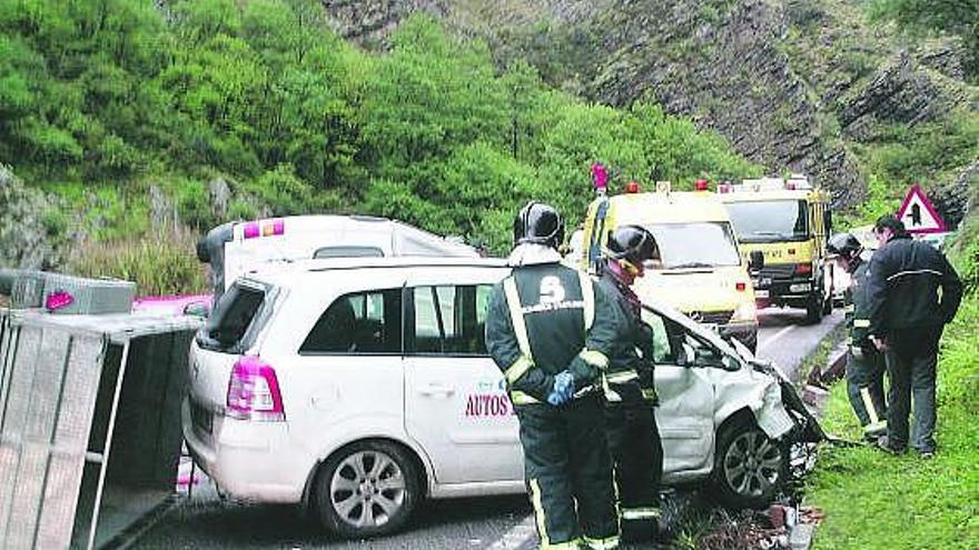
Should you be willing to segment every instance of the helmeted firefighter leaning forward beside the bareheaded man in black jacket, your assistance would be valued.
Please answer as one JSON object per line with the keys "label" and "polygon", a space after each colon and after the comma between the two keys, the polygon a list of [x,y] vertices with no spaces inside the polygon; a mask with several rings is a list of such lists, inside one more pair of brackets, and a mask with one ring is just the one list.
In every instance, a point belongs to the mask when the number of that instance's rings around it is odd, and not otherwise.
{"label": "helmeted firefighter leaning forward beside the bareheaded man in black jacket", "polygon": [[869,441],[887,433],[887,401],[883,392],[883,373],[887,370],[884,354],[870,341],[870,311],[868,310],[868,262],[861,253],[863,247],[850,233],[830,238],[827,251],[835,254],[837,266],[850,274],[850,287],[843,296],[843,311],[850,331],[847,356],[847,393],[853,412],[863,427]]}

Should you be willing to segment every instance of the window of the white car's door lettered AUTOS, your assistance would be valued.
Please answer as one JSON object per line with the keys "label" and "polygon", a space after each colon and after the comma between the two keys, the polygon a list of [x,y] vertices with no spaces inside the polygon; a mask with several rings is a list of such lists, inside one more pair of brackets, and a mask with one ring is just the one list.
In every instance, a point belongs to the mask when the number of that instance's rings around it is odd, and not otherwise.
{"label": "window of the white car's door lettered AUTOS", "polygon": [[411,289],[414,318],[408,329],[407,352],[486,356],[483,329],[492,289],[490,284]]}

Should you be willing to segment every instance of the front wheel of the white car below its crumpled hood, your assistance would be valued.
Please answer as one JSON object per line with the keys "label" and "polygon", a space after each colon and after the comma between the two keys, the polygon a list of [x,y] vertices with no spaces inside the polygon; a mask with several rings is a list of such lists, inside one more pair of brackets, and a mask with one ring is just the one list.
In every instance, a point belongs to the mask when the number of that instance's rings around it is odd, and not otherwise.
{"label": "front wheel of the white car below its crumpled hood", "polygon": [[789,449],[746,418],[721,429],[714,456],[714,484],[732,508],[770,503],[789,476]]}

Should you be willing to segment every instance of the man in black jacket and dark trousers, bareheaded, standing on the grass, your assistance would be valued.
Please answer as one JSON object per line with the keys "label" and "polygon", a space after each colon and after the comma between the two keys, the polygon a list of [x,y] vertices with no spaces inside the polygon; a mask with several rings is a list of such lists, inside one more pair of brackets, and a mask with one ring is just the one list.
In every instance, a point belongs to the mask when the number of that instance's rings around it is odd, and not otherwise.
{"label": "man in black jacket and dark trousers, bareheaded, standing on the grass", "polygon": [[[908,416],[914,401],[911,447],[922,458],[934,456],[934,380],[938,341],[962,300],[962,282],[945,256],[911,239],[904,224],[882,216],[873,228],[881,248],[870,262],[869,334],[887,354],[888,434],[882,449],[908,449]],[[939,292],[940,291],[940,292]]]}

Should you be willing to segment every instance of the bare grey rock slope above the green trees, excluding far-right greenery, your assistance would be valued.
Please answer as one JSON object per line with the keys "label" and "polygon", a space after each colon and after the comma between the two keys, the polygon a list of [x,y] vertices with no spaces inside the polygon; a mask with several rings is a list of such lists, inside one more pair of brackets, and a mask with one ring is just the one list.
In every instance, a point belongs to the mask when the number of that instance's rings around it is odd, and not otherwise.
{"label": "bare grey rock slope above the green trees, excluding far-right greenery", "polygon": [[[966,110],[955,44],[902,49],[847,0],[325,0],[339,32],[383,43],[416,11],[525,57],[555,87],[624,106],[651,94],[770,172],[811,174],[837,206],[867,197],[882,129]],[[866,147],[864,147],[866,146]],[[948,169],[947,179],[965,167]],[[732,174],[736,177],[738,174]]]}

